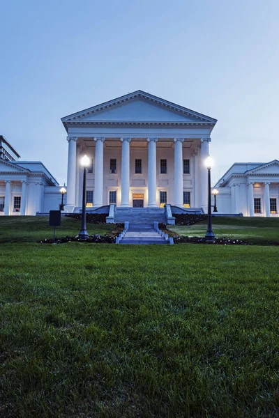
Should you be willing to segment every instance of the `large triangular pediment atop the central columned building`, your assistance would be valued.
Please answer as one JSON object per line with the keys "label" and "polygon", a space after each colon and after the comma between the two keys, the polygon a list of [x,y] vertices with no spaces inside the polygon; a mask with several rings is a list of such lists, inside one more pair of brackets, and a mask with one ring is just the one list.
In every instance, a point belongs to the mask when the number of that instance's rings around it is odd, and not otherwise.
{"label": "large triangular pediment atop the central columned building", "polygon": [[216,119],[199,114],[178,104],[167,102],[144,91],[136,91],[110,102],[62,118],[67,123],[206,123]]}

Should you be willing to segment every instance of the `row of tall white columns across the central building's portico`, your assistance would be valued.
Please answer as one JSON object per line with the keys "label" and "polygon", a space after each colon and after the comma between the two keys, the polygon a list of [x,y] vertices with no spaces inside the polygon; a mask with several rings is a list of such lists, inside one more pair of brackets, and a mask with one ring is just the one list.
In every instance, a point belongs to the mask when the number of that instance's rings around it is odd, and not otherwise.
{"label": "row of tall white columns across the central building's portico", "polygon": [[[67,176],[67,205],[69,212],[75,208],[75,181],[76,181],[76,161],[77,161],[77,137],[68,137],[68,176]],[[95,148],[95,188],[94,188],[94,206],[103,206],[103,146],[104,137],[94,138]],[[130,137],[121,138],[121,206],[130,206]],[[147,138],[148,142],[148,207],[157,207],[156,191],[156,143],[157,137]],[[183,138],[174,138],[174,205],[183,206]],[[207,170],[204,166],[204,160],[209,155],[210,138],[201,140],[201,159],[200,184],[201,184],[201,203],[207,204]],[[194,187],[195,187],[195,206],[198,206],[198,164],[197,153],[194,154]]]}

